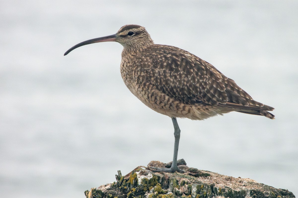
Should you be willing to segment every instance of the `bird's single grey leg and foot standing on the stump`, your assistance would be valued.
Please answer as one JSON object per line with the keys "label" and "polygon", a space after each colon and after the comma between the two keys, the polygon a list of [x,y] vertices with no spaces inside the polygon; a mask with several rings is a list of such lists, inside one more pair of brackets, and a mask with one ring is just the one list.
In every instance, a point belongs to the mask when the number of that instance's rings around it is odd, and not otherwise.
{"label": "bird's single grey leg and foot standing on the stump", "polygon": [[174,137],[175,137],[175,143],[174,143],[174,155],[173,155],[173,163],[170,168],[159,168],[159,167],[151,167],[153,172],[184,172],[183,170],[179,169],[177,167],[177,156],[178,156],[178,147],[179,147],[179,139],[180,139],[180,129],[177,123],[176,118],[172,118],[173,125],[174,125]]}

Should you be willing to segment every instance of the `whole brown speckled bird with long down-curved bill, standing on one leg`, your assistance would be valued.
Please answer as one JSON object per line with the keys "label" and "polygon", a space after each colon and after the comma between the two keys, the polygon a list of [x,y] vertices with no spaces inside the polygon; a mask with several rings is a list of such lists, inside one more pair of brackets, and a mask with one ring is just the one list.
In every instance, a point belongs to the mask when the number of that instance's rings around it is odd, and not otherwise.
{"label": "whole brown speckled bird with long down-curved bill, standing on one leg", "polygon": [[177,166],[180,128],[176,118],[204,120],[232,111],[274,119],[262,104],[212,64],[170,45],[154,44],[139,25],[122,26],[116,34],[86,40],[71,47],[114,41],[123,46],[120,72],[127,88],[152,110],[167,115],[174,127],[174,154],[170,168],[151,167],[154,172],[184,172]]}

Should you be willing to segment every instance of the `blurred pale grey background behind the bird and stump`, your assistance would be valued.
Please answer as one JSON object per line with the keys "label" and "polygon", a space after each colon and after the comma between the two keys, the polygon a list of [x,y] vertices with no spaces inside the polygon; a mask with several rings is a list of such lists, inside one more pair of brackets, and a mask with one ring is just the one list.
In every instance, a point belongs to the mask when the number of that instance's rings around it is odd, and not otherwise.
{"label": "blurred pale grey background behind the bird and stump", "polygon": [[122,46],[63,53],[125,24],[190,51],[276,108],[178,119],[178,158],[298,194],[298,2],[0,1],[0,197],[84,197],[173,154],[170,118],[122,82]]}

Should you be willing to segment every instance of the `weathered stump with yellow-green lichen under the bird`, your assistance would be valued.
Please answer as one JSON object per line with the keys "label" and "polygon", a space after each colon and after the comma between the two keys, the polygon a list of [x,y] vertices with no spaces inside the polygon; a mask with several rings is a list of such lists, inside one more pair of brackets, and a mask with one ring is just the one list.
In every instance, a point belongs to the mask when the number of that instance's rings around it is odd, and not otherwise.
{"label": "weathered stump with yellow-green lichen under the bird", "polygon": [[116,182],[87,190],[85,195],[87,198],[295,198],[285,189],[276,189],[248,178],[189,168],[183,163],[179,168],[185,173],[158,173],[149,168],[168,164],[151,161],[148,167],[136,167],[125,176],[118,171]]}

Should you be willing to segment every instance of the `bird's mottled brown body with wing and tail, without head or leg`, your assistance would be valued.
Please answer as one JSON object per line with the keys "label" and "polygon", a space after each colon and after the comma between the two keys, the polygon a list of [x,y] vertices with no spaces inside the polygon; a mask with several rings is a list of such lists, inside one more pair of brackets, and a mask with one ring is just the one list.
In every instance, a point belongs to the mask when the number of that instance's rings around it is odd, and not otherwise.
{"label": "bird's mottled brown body with wing and tail, without head or leg", "polygon": [[[125,84],[142,102],[159,113],[200,120],[238,111],[274,118],[267,112],[273,107],[254,101],[234,80],[178,47],[154,44],[135,53],[127,53],[127,56],[129,58],[123,57],[122,53],[121,73]],[[153,92],[154,96],[150,96]],[[161,97],[171,100],[172,104]],[[177,116],[179,113],[173,113],[171,105],[183,106],[184,109],[189,107],[188,114],[198,114],[193,113],[193,109],[202,111],[201,114],[204,114],[205,108],[210,112],[204,116],[185,116],[183,113]]]}

